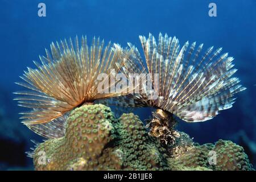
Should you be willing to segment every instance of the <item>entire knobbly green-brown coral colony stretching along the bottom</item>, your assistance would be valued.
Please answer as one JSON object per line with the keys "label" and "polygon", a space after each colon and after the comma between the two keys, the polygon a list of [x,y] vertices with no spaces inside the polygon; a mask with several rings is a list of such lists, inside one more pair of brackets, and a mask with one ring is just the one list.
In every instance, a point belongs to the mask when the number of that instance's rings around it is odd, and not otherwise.
{"label": "entire knobbly green-brown coral colony stretching along the bottom", "polygon": [[[158,138],[149,135],[137,115],[123,114],[117,119],[109,107],[101,104],[73,110],[66,127],[64,137],[46,140],[36,148],[36,170],[252,169],[242,147],[230,141],[202,146],[189,143],[188,150],[170,155],[171,147],[167,150]],[[185,147],[179,140],[174,143],[174,150]],[[208,163],[209,151],[216,151],[214,166]]]}

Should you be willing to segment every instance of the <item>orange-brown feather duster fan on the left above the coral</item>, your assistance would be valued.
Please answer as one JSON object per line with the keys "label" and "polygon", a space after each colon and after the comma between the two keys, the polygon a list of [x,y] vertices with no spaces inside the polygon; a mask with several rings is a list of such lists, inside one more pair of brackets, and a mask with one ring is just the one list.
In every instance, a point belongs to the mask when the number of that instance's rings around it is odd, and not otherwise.
{"label": "orange-brown feather duster fan on the left above the coral", "polygon": [[[114,49],[118,50],[114,50]],[[122,66],[122,49],[93,38],[92,46],[86,37],[81,41],[64,40],[51,44],[51,52],[40,56],[41,64],[34,61],[36,69],[28,68],[16,84],[29,90],[15,92],[18,105],[31,110],[22,114],[23,123],[31,130],[46,138],[62,137],[65,132],[65,113],[86,102],[99,98],[117,97],[122,93],[99,93],[97,76],[118,72]],[[106,80],[105,82],[110,82]],[[108,88],[109,89],[111,84]]]}

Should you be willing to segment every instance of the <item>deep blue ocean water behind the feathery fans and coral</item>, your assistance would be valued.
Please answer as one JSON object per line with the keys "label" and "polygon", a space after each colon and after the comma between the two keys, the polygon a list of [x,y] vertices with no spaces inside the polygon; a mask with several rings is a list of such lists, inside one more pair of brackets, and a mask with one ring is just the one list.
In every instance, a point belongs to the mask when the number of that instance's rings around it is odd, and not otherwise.
{"label": "deep blue ocean water behind the feathery fans and coral", "polygon": [[[46,4],[46,17],[38,16],[38,4]],[[217,16],[208,15],[209,3],[217,5]],[[31,169],[32,160],[24,151],[32,146],[30,139],[41,140],[20,123],[13,101],[20,86],[19,76],[32,60],[45,55],[51,42],[76,35],[89,39],[100,36],[106,41],[126,46],[135,44],[142,52],[139,35],[159,32],[204,43],[204,47],[222,47],[233,56],[237,77],[247,90],[236,95],[236,104],[203,123],[179,122],[196,142],[229,139],[248,147],[249,157],[256,161],[256,1],[255,0],[170,0],[170,1],[20,1],[0,0],[0,169]],[[150,109],[135,110],[141,119]],[[246,142],[245,142],[246,141]],[[254,148],[253,148],[254,147]]]}

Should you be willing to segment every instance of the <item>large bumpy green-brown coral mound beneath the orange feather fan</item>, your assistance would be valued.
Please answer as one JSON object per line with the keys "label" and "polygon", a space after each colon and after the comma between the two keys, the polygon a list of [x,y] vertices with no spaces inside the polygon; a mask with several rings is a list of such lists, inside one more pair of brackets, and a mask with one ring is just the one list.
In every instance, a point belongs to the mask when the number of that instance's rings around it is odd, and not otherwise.
{"label": "large bumpy green-brown coral mound beneath the orange feather fan", "polygon": [[39,144],[34,165],[36,170],[168,169],[164,151],[134,114],[116,119],[109,107],[84,105],[69,115],[65,137]]}

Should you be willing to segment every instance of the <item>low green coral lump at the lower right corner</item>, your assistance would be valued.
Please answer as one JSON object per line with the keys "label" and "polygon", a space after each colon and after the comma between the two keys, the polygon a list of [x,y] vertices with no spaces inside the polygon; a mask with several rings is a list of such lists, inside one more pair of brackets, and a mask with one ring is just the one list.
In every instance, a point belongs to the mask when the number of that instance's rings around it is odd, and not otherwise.
{"label": "low green coral lump at the lower right corner", "polygon": [[[216,152],[216,164],[209,163],[209,152]],[[172,168],[205,167],[217,171],[254,170],[243,148],[231,141],[218,140],[215,144],[198,144],[177,158],[170,158]]]}

